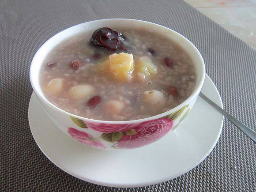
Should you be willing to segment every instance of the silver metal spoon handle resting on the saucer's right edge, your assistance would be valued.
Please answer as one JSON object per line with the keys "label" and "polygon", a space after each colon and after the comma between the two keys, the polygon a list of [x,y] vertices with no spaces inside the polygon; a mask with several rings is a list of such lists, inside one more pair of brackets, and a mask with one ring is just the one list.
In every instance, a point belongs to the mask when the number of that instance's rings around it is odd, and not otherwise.
{"label": "silver metal spoon handle resting on the saucer's right edge", "polygon": [[225,110],[223,110],[221,107],[219,107],[216,103],[211,101],[211,99],[207,98],[202,92],[200,92],[199,96],[209,103],[212,107],[214,107],[219,113],[221,113],[224,117],[226,117],[228,120],[230,120],[234,125],[237,126],[242,132],[245,133],[254,143],[256,143],[256,132],[253,131],[251,128],[247,127],[245,124],[242,124],[239,120],[237,120],[235,117],[227,113]]}

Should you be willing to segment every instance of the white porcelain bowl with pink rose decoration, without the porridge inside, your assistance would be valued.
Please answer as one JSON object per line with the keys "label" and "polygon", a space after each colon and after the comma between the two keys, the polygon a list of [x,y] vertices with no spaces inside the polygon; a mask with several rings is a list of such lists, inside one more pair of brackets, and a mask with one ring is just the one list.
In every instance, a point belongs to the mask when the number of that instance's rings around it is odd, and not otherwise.
{"label": "white porcelain bowl with pink rose decoration, without the porridge inside", "polygon": [[[150,31],[161,31],[166,38],[170,38],[172,41],[180,44],[196,65],[197,80],[191,96],[177,107],[165,113],[144,119],[127,121],[105,121],[79,117],[49,102],[45,98],[39,83],[40,68],[49,50],[58,42],[75,34],[88,31],[93,32],[98,28],[106,26],[109,28],[139,28],[143,26]],[[181,121],[184,120],[196,102],[203,86],[204,77],[205,66],[203,58],[187,38],[164,26],[134,19],[102,19],[72,26],[46,41],[38,49],[30,65],[30,82],[34,92],[54,124],[80,143],[105,150],[124,150],[143,147],[161,139],[167,133],[172,134],[171,131],[177,128]]]}

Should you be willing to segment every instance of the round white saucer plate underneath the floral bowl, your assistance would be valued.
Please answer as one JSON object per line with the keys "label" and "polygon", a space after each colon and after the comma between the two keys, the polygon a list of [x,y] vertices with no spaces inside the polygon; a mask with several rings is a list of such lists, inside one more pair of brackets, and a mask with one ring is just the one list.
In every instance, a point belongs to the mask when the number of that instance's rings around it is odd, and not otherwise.
{"label": "round white saucer plate underneath the floral bowl", "polygon": [[[222,107],[218,90],[207,75],[202,92]],[[34,93],[28,117],[38,147],[51,162],[74,177],[111,187],[147,186],[188,172],[210,154],[223,124],[223,116],[198,98],[178,128],[155,143],[127,151],[104,151],[65,135]]]}

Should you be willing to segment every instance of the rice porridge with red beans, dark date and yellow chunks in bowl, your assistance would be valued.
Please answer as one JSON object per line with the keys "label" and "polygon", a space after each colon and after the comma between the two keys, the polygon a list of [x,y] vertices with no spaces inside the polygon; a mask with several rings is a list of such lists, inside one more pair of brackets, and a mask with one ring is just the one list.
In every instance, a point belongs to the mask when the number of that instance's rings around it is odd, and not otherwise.
{"label": "rice porridge with red beans, dark date and yellow chunks in bowl", "polygon": [[151,117],[193,92],[196,70],[180,45],[145,29],[98,29],[55,45],[40,72],[45,97],[97,120]]}

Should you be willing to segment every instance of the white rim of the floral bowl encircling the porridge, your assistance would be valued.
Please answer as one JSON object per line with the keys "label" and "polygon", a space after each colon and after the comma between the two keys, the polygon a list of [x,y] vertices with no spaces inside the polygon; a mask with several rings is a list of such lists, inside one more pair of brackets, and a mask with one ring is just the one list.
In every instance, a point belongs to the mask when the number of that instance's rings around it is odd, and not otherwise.
{"label": "white rim of the floral bowl encircling the porridge", "polygon": [[[36,57],[38,56],[38,53],[41,51],[42,47],[47,44],[50,40],[52,40],[53,38],[55,38],[57,35],[59,35],[60,33],[63,33],[64,31],[66,30],[69,30],[70,28],[75,28],[77,26],[80,26],[80,25],[84,25],[85,23],[87,24],[90,24],[90,23],[94,23],[94,22],[102,22],[102,21],[118,21],[118,20],[130,20],[130,21],[134,21],[134,22],[142,22],[142,23],[147,23],[147,24],[150,24],[150,25],[155,25],[155,26],[158,26],[159,28],[165,28],[169,31],[172,31],[172,33],[180,36],[182,39],[184,39],[185,41],[187,41],[188,44],[192,45],[193,49],[195,49],[196,53],[197,53],[197,57],[199,57],[200,59],[200,67],[202,68],[202,72],[200,74],[201,76],[201,79],[198,79],[199,80],[199,83],[197,85],[197,87],[195,87],[194,91],[192,92],[192,94],[186,99],[184,100],[181,104],[177,105],[176,107],[172,108],[172,109],[169,109],[168,111],[164,112],[164,113],[160,113],[160,114],[157,114],[157,115],[154,115],[154,116],[151,116],[151,117],[147,117],[147,118],[142,118],[142,119],[136,119],[136,120],[122,120],[122,121],[109,121],[109,120],[97,120],[97,119],[90,119],[90,118],[87,118],[87,117],[82,117],[82,116],[78,116],[78,115],[75,115],[73,113],[69,113],[63,109],[60,109],[59,107],[57,107],[56,105],[53,105],[51,102],[48,101],[48,99],[46,99],[46,97],[43,95],[43,94],[40,94],[38,92],[38,89],[41,89],[40,86],[35,86],[34,85],[34,82],[33,82],[33,79],[32,79],[32,66],[34,64],[36,64],[35,60],[36,60]],[[51,49],[51,48],[50,48]],[[50,50],[49,49],[49,50]],[[49,51],[48,50],[48,51]],[[48,53],[48,52],[47,52]],[[41,66],[40,66],[41,67]],[[199,74],[198,74],[199,75]],[[38,75],[37,75],[38,77]],[[93,20],[93,21],[88,21],[88,22],[84,22],[84,23],[79,23],[75,26],[71,26],[71,27],[68,27],[64,30],[61,30],[60,32],[58,32],[57,34],[53,35],[51,38],[49,38],[47,41],[45,41],[41,46],[40,48],[38,49],[38,51],[35,53],[32,61],[31,61],[31,64],[30,64],[30,83],[33,87],[33,90],[36,94],[36,96],[38,97],[39,101],[40,102],[44,102],[45,104],[47,104],[49,107],[57,110],[57,111],[60,111],[61,113],[64,113],[68,116],[71,116],[71,117],[75,117],[75,118],[78,118],[78,119],[81,119],[81,120],[84,120],[84,121],[88,121],[88,122],[91,122],[91,123],[102,123],[102,124],[131,124],[131,123],[140,123],[140,122],[144,122],[144,121],[148,121],[148,120],[154,120],[154,119],[159,119],[159,118],[162,118],[162,117],[165,117],[167,115],[169,115],[170,113],[173,113],[174,111],[176,111],[177,109],[180,109],[184,103],[189,103],[191,102],[194,98],[196,98],[198,96],[198,94],[200,93],[200,90],[201,88],[203,87],[203,82],[204,82],[204,79],[205,79],[205,65],[204,65],[204,61],[203,61],[203,57],[201,55],[201,53],[199,52],[199,50],[196,48],[196,46],[194,44],[192,44],[191,41],[189,41],[187,38],[185,38],[183,35],[177,33],[176,31],[172,30],[172,29],[169,29],[168,27],[166,26],[162,26],[162,25],[159,25],[159,24],[156,24],[156,23],[152,23],[152,22],[148,22],[148,21],[143,21],[143,20],[138,20],[138,19],[121,19],[121,18],[118,18],[118,19],[98,19],[98,20]],[[41,98],[41,99],[40,99]]]}

